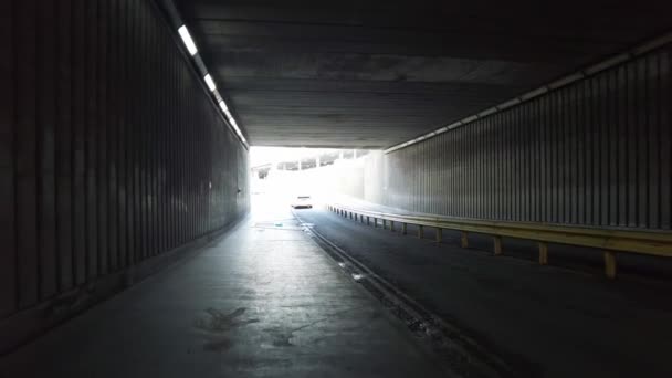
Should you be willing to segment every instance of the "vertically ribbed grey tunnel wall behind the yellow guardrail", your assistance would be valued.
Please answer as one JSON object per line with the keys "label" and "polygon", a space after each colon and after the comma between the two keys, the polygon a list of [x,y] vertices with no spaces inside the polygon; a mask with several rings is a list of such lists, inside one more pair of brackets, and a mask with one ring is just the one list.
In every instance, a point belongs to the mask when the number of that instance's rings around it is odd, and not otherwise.
{"label": "vertically ribbed grey tunnel wall behind the yellow guardrail", "polygon": [[670,45],[386,155],[385,204],[670,229]]}

